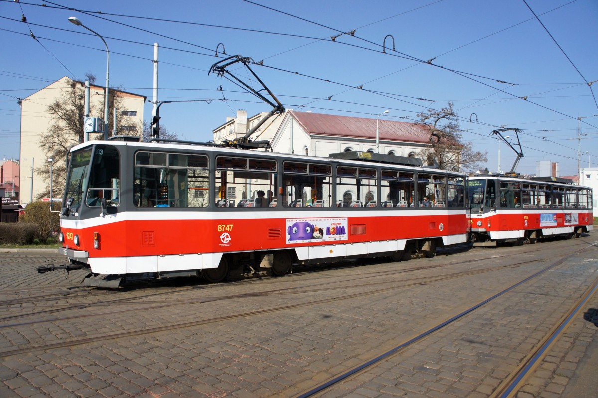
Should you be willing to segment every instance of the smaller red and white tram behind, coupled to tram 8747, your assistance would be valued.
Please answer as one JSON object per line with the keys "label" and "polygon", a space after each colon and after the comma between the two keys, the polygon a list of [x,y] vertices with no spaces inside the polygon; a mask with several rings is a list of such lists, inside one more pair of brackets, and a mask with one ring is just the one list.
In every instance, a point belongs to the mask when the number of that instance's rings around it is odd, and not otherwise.
{"label": "smaller red and white tram behind, coupled to tram 8747", "polygon": [[481,175],[468,181],[471,241],[535,243],[592,230],[592,190],[557,177]]}

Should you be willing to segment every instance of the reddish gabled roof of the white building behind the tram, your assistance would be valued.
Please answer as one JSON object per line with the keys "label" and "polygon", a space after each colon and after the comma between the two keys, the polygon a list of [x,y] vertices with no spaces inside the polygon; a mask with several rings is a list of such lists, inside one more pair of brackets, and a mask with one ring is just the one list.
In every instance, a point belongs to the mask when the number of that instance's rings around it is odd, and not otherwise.
{"label": "reddish gabled roof of the white building behind the tram", "polygon": [[[376,138],[376,119],[298,111],[288,111],[288,113],[310,135]],[[428,144],[430,130],[425,124],[380,119],[379,138]]]}

